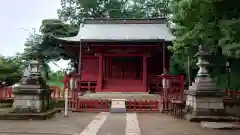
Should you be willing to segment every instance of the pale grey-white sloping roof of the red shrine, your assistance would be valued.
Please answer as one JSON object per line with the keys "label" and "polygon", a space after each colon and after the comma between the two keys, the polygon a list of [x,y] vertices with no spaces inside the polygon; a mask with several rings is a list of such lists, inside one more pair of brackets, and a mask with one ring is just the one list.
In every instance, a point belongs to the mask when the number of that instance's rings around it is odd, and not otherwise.
{"label": "pale grey-white sloping roof of the red shrine", "polygon": [[172,41],[167,20],[157,19],[85,19],[74,37],[57,38],[67,42]]}

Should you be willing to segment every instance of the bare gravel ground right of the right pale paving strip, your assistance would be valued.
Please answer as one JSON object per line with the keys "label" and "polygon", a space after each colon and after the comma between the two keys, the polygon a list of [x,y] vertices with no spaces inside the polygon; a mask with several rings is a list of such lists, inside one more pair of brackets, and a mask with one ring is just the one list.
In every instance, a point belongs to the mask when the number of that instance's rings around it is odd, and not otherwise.
{"label": "bare gravel ground right of the right pale paving strip", "polygon": [[142,135],[240,135],[240,130],[203,129],[200,123],[172,119],[164,114],[138,114]]}

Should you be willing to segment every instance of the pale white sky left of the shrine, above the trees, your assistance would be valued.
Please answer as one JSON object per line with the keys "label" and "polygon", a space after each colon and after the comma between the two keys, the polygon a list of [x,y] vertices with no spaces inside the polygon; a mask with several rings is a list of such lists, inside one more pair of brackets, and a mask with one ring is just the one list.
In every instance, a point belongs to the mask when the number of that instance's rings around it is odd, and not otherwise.
{"label": "pale white sky left of the shrine, above the trees", "polygon": [[[0,55],[13,56],[23,52],[24,41],[32,28],[38,28],[43,19],[57,18],[60,0],[2,0],[0,4]],[[57,63],[66,67],[66,61]],[[58,67],[51,64],[53,70]]]}

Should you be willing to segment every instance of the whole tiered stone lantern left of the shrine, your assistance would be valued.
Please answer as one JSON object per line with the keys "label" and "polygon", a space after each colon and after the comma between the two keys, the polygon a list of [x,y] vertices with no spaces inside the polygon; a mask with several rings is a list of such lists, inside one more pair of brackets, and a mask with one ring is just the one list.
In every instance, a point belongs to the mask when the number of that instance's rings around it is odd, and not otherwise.
{"label": "whole tiered stone lantern left of the shrine", "polygon": [[15,113],[41,113],[49,109],[51,91],[41,76],[37,50],[33,57],[21,82],[13,87]]}

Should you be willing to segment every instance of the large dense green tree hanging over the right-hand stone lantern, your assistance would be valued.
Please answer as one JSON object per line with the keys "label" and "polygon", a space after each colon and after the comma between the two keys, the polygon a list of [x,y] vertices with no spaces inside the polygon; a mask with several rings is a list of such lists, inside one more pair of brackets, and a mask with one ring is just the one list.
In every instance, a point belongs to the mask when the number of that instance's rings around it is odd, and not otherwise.
{"label": "large dense green tree hanging over the right-hand stone lantern", "polygon": [[[171,21],[174,24],[173,33],[176,36],[171,48],[173,51],[172,63],[179,65],[178,68],[183,67],[180,65],[186,65],[187,58],[185,56],[194,58],[197,46],[200,44],[210,52],[216,52],[219,47],[222,47],[224,54],[229,53],[229,51],[236,54],[239,50],[240,32],[237,27],[240,22],[238,3],[237,0],[172,1],[170,4]],[[221,61],[213,58],[212,62],[216,66],[226,59],[227,56],[222,57]],[[194,58],[191,63],[193,70],[196,70],[195,62]],[[215,78],[226,76],[225,73],[214,70],[211,73]],[[226,77],[223,79],[226,80]]]}

